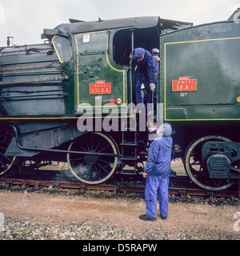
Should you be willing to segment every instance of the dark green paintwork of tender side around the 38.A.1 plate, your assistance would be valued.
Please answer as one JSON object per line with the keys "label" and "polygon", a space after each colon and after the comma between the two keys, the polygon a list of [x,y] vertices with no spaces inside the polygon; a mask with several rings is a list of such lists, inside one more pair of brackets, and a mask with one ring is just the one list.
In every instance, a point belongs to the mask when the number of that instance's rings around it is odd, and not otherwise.
{"label": "dark green paintwork of tender side around the 38.A.1 plate", "polygon": [[[161,101],[166,120],[240,119],[239,59],[239,24],[234,22],[162,35]],[[182,76],[197,79],[197,90],[172,91],[172,81]]]}

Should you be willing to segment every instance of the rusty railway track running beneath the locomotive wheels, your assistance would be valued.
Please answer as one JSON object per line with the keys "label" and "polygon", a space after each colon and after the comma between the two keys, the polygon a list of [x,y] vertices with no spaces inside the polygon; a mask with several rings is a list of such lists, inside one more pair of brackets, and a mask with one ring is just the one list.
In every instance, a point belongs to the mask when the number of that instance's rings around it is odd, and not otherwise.
{"label": "rusty railway track running beneath the locomotive wheels", "polygon": [[[30,179],[21,179],[21,178],[0,178],[0,188],[1,186],[10,188],[11,186],[20,186],[22,190],[25,190],[28,187],[33,187],[34,190],[40,190],[42,187],[52,186],[53,189],[58,190],[62,189],[75,189],[79,190],[80,194],[84,194],[86,190],[106,190],[112,191],[114,194],[121,192],[134,192],[134,193],[144,193],[145,186],[122,186],[116,184],[98,184],[98,185],[89,185],[81,182],[57,182],[57,181],[46,181],[46,180],[30,180]],[[179,188],[179,187],[170,187],[170,194],[175,194],[181,196],[181,198],[190,196],[202,196],[210,198],[231,198],[240,197],[239,190],[221,190],[221,191],[210,191],[202,190],[198,188]]]}

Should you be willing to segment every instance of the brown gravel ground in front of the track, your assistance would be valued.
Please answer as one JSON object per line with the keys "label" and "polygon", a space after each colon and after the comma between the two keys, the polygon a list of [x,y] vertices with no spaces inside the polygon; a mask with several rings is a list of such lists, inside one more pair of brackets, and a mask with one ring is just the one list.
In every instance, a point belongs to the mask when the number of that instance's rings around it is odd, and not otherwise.
{"label": "brown gravel ground in front of the track", "polygon": [[0,201],[0,240],[240,240],[238,198],[170,194],[169,216],[156,222],[139,219],[142,194],[0,190]]}

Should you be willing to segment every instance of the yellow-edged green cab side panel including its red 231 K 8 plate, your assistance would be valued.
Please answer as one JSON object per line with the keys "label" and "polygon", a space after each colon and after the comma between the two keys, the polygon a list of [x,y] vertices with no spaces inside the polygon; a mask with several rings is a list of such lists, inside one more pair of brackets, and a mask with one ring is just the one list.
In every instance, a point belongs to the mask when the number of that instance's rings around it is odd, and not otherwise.
{"label": "yellow-edged green cab side panel including its red 231 K 8 plate", "polygon": [[[113,106],[126,102],[126,72],[110,64],[109,31],[76,34],[77,106]],[[114,104],[110,105],[110,100]],[[99,104],[100,103],[100,104]]]}

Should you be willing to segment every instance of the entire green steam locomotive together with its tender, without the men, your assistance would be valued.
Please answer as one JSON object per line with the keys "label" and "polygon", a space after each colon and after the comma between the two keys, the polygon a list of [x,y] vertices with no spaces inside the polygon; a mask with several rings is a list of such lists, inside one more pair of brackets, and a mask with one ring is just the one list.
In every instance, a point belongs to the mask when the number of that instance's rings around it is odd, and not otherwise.
{"label": "entire green steam locomotive together with its tender, without the men", "polygon": [[173,158],[182,158],[198,186],[232,186],[240,172],[240,25],[192,25],[159,17],[70,19],[44,30],[44,44],[3,47],[0,175],[21,171],[26,161],[66,160],[74,177],[90,184],[117,171],[141,172],[147,117],[133,111],[133,50],[157,47],[156,118],[176,130]]}

